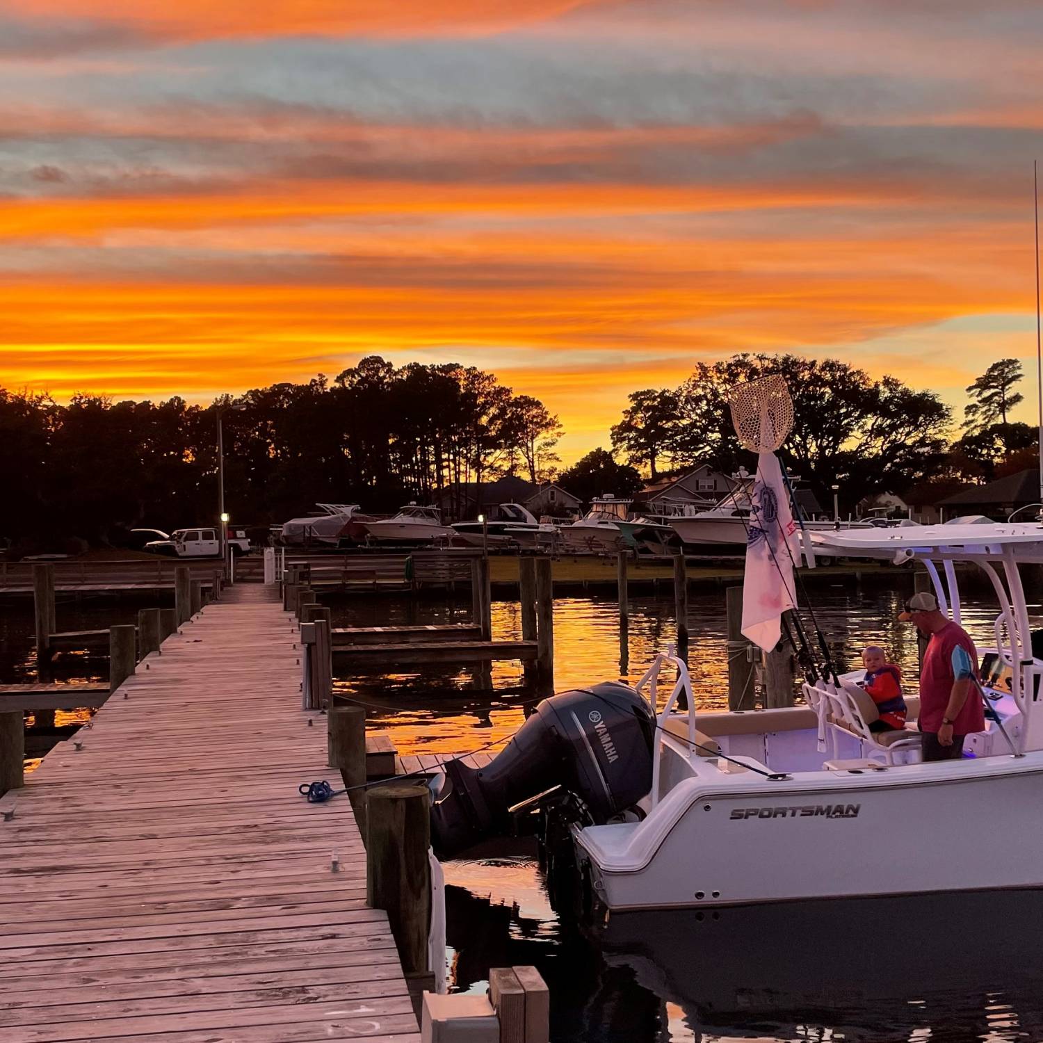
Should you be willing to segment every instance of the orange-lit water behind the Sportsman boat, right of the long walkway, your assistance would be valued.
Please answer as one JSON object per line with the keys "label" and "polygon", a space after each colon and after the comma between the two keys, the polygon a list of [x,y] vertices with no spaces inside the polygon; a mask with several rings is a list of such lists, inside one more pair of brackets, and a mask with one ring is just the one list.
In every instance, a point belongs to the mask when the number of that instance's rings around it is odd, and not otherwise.
{"label": "orange-lit water behind the Sportsman boat, right of the long walkway", "polygon": [[[804,627],[815,640],[822,629],[840,668],[858,664],[863,648],[883,645],[907,680],[918,675],[916,633],[898,622],[912,592],[912,576],[818,585],[811,589],[811,613]],[[996,614],[991,588],[971,574],[965,589],[964,624],[981,645],[992,644]],[[462,601],[350,599],[333,603],[335,625],[402,625],[407,622],[459,623],[468,616]],[[630,621],[621,629],[614,597],[558,598],[554,605],[555,687],[563,690],[620,678],[634,683],[656,651],[675,636],[672,597],[631,597]],[[492,605],[496,639],[520,637],[520,606],[515,601]],[[689,669],[697,705],[724,709],[728,701],[728,637],[723,589],[690,591],[688,598]],[[486,677],[476,666],[444,665],[402,670],[386,675],[341,675],[337,689],[364,702],[373,725],[392,732],[405,753],[461,752],[503,737],[516,728],[534,697],[525,685],[522,664],[496,662]],[[476,743],[477,739],[480,742]]]}

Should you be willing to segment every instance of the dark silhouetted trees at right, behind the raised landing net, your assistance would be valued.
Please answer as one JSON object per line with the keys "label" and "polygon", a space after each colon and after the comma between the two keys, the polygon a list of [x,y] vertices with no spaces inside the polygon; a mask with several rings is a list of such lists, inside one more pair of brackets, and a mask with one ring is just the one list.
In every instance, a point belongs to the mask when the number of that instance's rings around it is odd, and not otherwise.
{"label": "dark silhouetted trees at right, behind the raised landing net", "polygon": [[893,377],[873,380],[836,359],[744,354],[700,363],[679,387],[633,392],[612,428],[612,447],[653,478],[662,465],[752,468],[732,429],[728,393],[772,373],[785,378],[794,402],[794,428],[779,455],[822,503],[834,483],[850,507],[869,493],[902,494],[936,480],[989,481],[1032,465],[1035,429],[1008,418],[1022,398],[1012,391],[1022,377],[1015,359],[994,363],[967,388],[967,433],[954,441],[952,411],[933,391]]}

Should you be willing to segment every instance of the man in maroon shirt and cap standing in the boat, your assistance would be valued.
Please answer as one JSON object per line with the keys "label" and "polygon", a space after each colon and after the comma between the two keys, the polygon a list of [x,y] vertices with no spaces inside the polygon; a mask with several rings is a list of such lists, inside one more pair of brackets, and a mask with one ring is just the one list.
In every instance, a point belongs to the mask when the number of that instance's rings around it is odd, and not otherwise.
{"label": "man in maroon shirt and cap standing in the boat", "polygon": [[964,739],[985,730],[985,710],[974,683],[977,649],[963,627],[939,611],[932,593],[915,593],[898,618],[912,621],[930,637],[920,670],[923,759],[957,759]]}

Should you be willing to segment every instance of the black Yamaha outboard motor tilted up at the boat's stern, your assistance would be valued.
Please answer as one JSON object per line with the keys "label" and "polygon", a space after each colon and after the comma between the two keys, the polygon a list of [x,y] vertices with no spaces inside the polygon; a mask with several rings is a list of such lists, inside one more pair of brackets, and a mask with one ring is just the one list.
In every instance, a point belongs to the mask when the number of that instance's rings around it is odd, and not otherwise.
{"label": "black Yamaha outboard motor tilted up at the boat's stern", "polygon": [[446,763],[431,808],[435,851],[451,857],[504,831],[509,808],[555,786],[579,798],[592,822],[607,822],[651,789],[654,736],[648,703],[615,681],[543,700],[485,768]]}

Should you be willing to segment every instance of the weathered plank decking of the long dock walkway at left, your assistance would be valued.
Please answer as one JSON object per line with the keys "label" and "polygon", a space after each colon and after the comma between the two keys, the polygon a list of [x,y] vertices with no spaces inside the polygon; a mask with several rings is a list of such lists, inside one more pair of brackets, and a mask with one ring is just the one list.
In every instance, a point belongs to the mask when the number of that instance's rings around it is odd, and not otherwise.
{"label": "weathered plank decking of the long dock walkway at left", "polygon": [[0,799],[4,1043],[419,1039],[295,639],[229,589]]}

